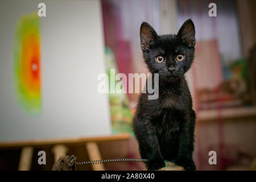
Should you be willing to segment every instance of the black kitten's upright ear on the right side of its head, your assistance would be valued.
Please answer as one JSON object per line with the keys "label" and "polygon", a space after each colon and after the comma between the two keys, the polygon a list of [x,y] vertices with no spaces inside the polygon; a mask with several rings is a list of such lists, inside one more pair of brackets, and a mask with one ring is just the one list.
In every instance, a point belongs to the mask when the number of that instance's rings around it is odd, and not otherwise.
{"label": "black kitten's upright ear on the right side of its head", "polygon": [[183,25],[180,27],[177,36],[186,43],[189,47],[195,47],[196,44],[196,31],[194,23],[191,19],[186,20]]}

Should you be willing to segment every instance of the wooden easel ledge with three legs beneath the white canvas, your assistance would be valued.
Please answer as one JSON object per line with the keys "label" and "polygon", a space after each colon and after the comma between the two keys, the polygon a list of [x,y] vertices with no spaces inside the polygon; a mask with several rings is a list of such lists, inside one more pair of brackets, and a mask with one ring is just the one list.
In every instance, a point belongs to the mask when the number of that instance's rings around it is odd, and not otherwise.
{"label": "wooden easel ledge with three legs beneath the white canvas", "polygon": [[[113,140],[127,140],[130,134],[110,135],[108,137],[91,137],[91,138],[73,138],[73,139],[53,139],[53,140],[29,140],[21,142],[1,142],[0,148],[22,147],[19,160],[19,171],[29,171],[31,169],[31,162],[35,146],[53,146],[52,152],[54,154],[55,162],[61,155],[67,155],[68,144],[85,144],[88,152],[89,160],[101,160],[98,142],[106,142]],[[105,170],[104,164],[92,165],[94,171]]]}

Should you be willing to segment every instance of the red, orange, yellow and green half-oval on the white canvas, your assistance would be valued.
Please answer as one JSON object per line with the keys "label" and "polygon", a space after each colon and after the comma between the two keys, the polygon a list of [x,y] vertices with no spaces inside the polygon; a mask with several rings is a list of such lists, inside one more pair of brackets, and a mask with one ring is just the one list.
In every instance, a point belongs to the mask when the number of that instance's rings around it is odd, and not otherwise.
{"label": "red, orange, yellow and green half-oval on the white canvas", "polygon": [[19,105],[28,115],[41,113],[39,17],[22,16],[14,38],[14,88]]}

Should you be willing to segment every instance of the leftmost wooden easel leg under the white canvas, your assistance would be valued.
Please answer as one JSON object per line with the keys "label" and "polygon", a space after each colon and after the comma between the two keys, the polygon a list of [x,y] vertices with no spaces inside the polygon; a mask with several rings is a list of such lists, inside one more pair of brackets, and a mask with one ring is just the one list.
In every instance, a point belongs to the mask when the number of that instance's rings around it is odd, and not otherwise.
{"label": "leftmost wooden easel leg under the white canvas", "polygon": [[32,163],[33,147],[23,147],[19,159],[19,171],[29,171]]}

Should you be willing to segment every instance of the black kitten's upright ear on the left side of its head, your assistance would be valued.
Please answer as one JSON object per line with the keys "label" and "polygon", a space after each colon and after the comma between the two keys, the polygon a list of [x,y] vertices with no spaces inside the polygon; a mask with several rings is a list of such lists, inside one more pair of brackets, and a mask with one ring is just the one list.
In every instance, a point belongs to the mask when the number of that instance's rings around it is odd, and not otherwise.
{"label": "black kitten's upright ear on the left side of its head", "polygon": [[143,22],[141,24],[141,49],[143,51],[147,51],[150,49],[150,46],[154,44],[155,40],[158,38],[158,34],[156,34],[154,28],[150,26],[150,24]]}

